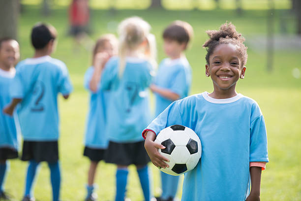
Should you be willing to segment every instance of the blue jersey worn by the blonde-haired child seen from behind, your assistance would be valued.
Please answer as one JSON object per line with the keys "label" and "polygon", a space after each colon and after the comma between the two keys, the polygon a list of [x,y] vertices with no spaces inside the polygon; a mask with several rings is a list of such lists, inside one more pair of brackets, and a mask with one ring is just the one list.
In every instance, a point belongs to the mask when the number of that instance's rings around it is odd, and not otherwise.
{"label": "blue jersey worn by the blonde-haired child seen from behind", "polygon": [[101,88],[111,90],[108,103],[107,133],[114,142],[142,141],[141,132],[150,123],[148,87],[151,64],[143,59],[126,58],[119,76],[119,58],[111,58],[101,78]]}

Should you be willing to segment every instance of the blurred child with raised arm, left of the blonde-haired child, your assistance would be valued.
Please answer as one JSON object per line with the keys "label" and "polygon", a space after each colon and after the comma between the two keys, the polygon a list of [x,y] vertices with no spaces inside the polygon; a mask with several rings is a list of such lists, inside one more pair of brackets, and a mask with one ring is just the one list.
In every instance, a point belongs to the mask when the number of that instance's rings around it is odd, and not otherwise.
{"label": "blurred child with raised arm, left of the blonde-haired child", "polygon": [[106,128],[106,105],[108,104],[109,91],[99,89],[99,80],[103,67],[110,57],[117,54],[118,40],[113,34],[102,35],[96,42],[93,50],[93,66],[85,74],[84,85],[90,92],[90,110],[87,119],[85,134],[84,156],[90,159],[88,172],[87,197],[85,201],[95,201],[97,195],[94,177],[98,162],[104,159],[108,146]]}

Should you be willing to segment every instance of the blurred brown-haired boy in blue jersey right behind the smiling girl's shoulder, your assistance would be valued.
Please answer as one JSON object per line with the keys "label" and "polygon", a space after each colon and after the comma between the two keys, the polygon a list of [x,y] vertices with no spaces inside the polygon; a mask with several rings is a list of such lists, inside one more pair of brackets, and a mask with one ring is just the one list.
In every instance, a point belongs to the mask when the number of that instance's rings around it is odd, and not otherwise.
{"label": "blurred brown-haired boy in blue jersey right behind the smiling girl's shoulder", "polygon": [[[183,21],[175,21],[163,33],[164,51],[169,57],[159,65],[152,92],[156,98],[158,116],[173,101],[185,98],[191,85],[191,67],[185,57],[189,40],[193,34],[192,27]],[[157,201],[173,201],[179,183],[179,176],[173,176],[161,171],[162,195]]]}

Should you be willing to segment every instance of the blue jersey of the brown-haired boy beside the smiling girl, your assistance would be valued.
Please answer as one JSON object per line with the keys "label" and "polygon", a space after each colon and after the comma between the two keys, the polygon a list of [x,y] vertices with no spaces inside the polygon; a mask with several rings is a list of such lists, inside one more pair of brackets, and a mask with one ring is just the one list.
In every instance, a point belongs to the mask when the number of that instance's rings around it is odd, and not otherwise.
{"label": "blue jersey of the brown-haired boy beside the smiling girl", "polygon": [[[158,87],[169,89],[178,94],[180,99],[188,96],[191,85],[191,67],[187,59],[164,59],[159,65],[159,70],[154,82]],[[159,115],[173,101],[166,99],[159,94],[156,97],[156,112]]]}

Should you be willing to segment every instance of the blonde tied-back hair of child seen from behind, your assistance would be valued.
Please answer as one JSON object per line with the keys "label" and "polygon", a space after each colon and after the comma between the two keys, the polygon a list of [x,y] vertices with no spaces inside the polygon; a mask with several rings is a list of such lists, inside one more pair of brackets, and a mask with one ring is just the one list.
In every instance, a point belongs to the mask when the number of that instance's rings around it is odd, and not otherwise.
{"label": "blonde tied-back hair of child seen from behind", "polygon": [[[148,40],[151,26],[140,17],[130,17],[123,20],[118,26],[119,33],[119,76],[121,77],[125,67],[125,56],[128,51],[136,50],[141,43],[147,41],[149,44],[150,56],[153,56],[153,42]],[[143,52],[146,57],[147,50]],[[150,58],[148,58],[150,59]],[[151,60],[151,59],[150,59]]]}

